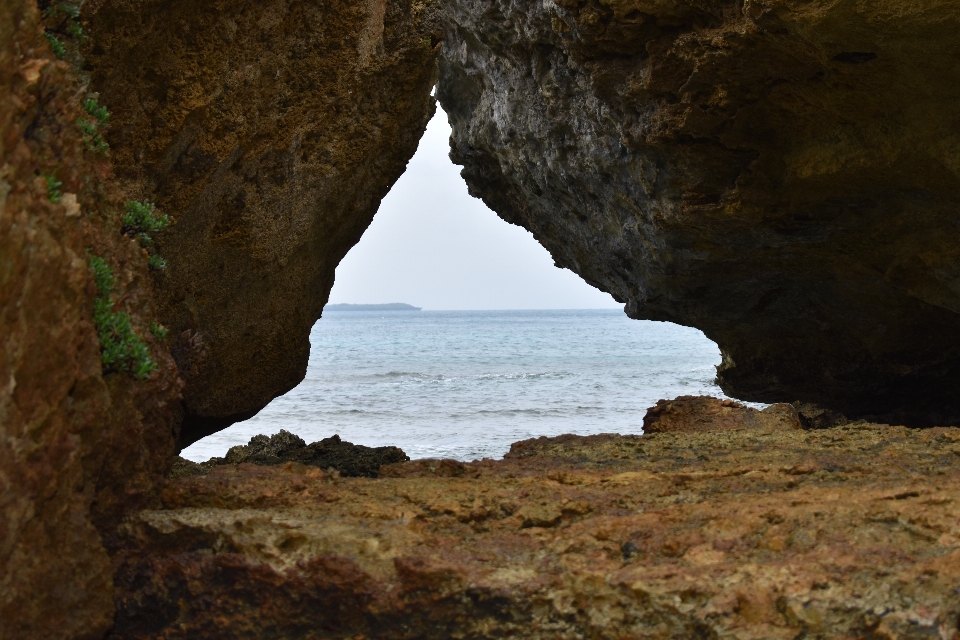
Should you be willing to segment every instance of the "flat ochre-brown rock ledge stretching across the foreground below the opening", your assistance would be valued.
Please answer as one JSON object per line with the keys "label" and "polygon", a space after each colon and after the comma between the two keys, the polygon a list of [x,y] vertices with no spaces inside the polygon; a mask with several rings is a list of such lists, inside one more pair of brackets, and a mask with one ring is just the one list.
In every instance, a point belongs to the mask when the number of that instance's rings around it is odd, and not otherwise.
{"label": "flat ochre-brown rock ledge stretching across the foreground below the opening", "polygon": [[115,638],[960,638],[960,429],[661,402],[647,435],[168,482]]}

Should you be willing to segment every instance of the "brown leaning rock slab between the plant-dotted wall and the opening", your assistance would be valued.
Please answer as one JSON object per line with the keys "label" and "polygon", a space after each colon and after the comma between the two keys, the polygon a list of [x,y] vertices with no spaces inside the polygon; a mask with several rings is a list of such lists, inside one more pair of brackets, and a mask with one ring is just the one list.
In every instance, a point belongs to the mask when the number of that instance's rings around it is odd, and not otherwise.
{"label": "brown leaning rock slab between the plant-dotted wall and the opening", "polygon": [[183,446],[303,378],[334,269],[434,112],[413,0],[91,0],[92,85],[131,192],[173,219],[160,314]]}

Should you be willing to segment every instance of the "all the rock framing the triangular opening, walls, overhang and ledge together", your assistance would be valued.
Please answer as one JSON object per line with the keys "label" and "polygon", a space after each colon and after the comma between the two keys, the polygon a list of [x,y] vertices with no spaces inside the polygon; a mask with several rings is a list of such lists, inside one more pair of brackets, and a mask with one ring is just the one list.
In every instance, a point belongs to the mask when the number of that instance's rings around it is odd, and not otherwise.
{"label": "all the rock framing the triangular opening, walls, overhang and ledge together", "polygon": [[[960,421],[958,22],[0,3],[0,640],[960,637],[960,432],[848,420]],[[472,464],[286,434],[167,477],[301,379],[433,112],[441,30],[473,192],[632,316],[703,329],[731,394],[797,402],[661,401],[647,435]],[[128,200],[172,219],[166,270]],[[105,368],[105,295],[145,375]]]}

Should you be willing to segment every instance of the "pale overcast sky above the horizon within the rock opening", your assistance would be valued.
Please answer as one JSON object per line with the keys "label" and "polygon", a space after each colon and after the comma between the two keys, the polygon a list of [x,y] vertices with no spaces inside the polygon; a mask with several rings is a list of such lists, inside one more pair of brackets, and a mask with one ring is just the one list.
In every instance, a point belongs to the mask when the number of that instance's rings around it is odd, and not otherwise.
{"label": "pale overcast sky above the horizon within the rock opening", "polygon": [[337,267],[331,303],[424,309],[617,309],[609,294],[554,266],[529,231],[467,193],[448,157],[439,107],[407,170]]}

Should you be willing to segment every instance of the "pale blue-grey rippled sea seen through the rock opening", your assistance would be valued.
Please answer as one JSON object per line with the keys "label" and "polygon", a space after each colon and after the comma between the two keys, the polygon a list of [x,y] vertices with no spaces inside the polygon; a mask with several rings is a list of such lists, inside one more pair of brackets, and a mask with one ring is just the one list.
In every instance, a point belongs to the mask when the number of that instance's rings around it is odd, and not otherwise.
{"label": "pale blue-grey rippled sea seen through the rock opening", "polygon": [[202,461],[286,429],[411,458],[500,458],[536,436],[641,433],[661,398],[725,397],[703,333],[619,310],[328,310],[310,343],[298,387],[182,455]]}

